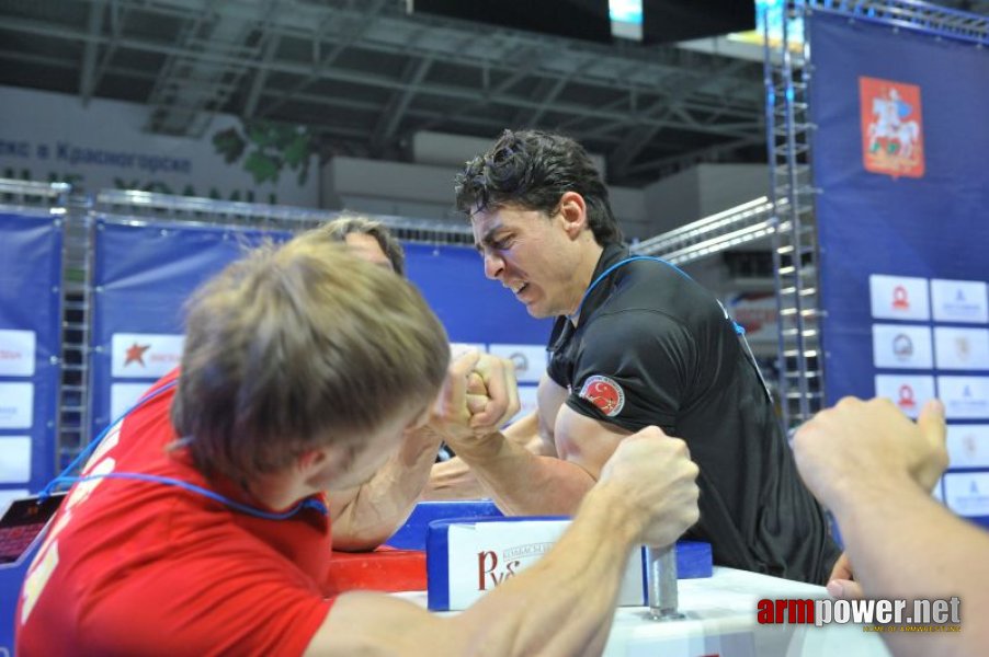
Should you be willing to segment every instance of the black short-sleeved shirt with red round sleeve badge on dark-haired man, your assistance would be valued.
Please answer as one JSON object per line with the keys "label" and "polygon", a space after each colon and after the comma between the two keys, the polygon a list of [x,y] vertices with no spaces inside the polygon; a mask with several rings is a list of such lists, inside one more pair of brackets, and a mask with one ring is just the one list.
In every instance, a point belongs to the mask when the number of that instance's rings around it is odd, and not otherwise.
{"label": "black short-sleeved shirt with red round sleeve badge on dark-haired man", "polygon": [[[594,279],[628,257],[610,245]],[[701,520],[689,535],[715,563],[815,584],[840,550],[804,486],[755,365],[717,300],[651,260],[607,274],[575,328],[559,318],[548,374],[581,415],[682,438],[701,470]]]}

